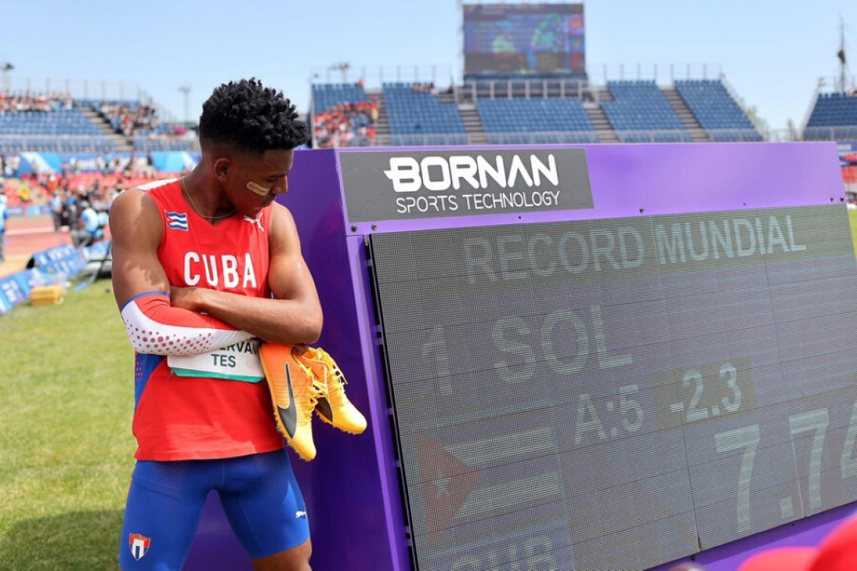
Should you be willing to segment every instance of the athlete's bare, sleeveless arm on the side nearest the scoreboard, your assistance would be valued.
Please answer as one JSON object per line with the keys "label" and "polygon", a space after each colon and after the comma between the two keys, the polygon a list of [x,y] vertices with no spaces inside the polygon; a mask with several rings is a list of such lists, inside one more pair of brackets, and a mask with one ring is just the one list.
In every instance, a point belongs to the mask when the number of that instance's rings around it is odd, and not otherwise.
{"label": "athlete's bare, sleeveless arm on the side nearest the scoreboard", "polygon": [[272,205],[268,286],[275,299],[248,297],[207,288],[173,288],[173,304],[206,312],[265,341],[315,343],[321,336],[321,303],[301,254],[291,212]]}

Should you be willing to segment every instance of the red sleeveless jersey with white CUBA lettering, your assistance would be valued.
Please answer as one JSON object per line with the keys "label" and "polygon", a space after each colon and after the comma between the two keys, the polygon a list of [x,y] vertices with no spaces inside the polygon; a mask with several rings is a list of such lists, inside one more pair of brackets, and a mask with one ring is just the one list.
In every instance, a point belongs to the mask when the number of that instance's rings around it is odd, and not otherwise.
{"label": "red sleeveless jersey with white CUBA lettering", "polygon": [[[272,208],[235,214],[216,226],[184,199],[178,181],[143,187],[161,215],[158,259],[172,286],[270,297]],[[135,354],[134,436],[138,460],[203,460],[269,452],[276,431],[267,384],[178,376],[167,358]]]}

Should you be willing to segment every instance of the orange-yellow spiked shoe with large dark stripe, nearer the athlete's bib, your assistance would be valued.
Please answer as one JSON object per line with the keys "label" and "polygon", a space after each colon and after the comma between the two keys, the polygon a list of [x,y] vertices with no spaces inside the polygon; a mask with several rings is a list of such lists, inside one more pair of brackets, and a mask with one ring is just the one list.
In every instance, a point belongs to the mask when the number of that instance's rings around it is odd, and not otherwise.
{"label": "orange-yellow spiked shoe with large dark stripe, nearer the athlete's bib", "polygon": [[273,416],[285,442],[303,460],[315,458],[313,409],[327,392],[308,367],[295,360],[291,345],[262,343],[259,348],[262,369],[271,390]]}

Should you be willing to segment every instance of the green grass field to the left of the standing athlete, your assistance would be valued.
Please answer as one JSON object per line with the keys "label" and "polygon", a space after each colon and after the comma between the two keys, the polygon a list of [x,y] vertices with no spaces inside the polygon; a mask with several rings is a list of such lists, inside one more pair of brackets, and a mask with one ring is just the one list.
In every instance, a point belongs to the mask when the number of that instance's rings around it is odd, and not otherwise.
{"label": "green grass field to the left of the standing athlete", "polygon": [[0,569],[115,569],[134,354],[109,281],[0,318]]}

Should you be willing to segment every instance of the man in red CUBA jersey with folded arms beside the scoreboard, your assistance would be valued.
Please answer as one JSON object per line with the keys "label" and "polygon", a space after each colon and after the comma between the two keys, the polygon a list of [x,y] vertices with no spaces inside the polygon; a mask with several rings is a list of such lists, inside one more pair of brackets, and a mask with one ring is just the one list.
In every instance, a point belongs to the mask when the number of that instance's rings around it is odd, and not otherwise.
{"label": "man in red CUBA jersey with folded arms beside the scoreboard", "polygon": [[[321,334],[294,219],[274,202],[306,138],[282,92],[230,82],[202,106],[200,164],[111,208],[113,286],[136,350],[126,571],[181,568],[210,490],[256,569],[309,569],[306,508],[267,386],[233,378],[217,354],[252,337],[302,345]],[[205,353],[207,370],[177,365]]]}

